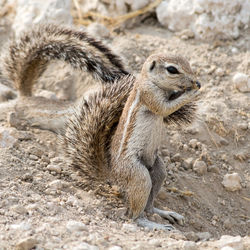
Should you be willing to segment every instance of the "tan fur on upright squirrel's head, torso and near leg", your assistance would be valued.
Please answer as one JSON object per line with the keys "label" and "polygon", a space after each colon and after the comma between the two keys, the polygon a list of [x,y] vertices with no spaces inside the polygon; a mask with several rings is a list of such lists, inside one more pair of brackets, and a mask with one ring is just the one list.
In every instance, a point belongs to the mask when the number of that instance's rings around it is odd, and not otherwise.
{"label": "tan fur on upright squirrel's head, torso and near leg", "polygon": [[[156,66],[150,71],[153,61]],[[180,72],[176,76],[169,75],[165,68],[173,62]],[[191,90],[184,91],[176,100],[168,100],[172,90],[187,88]],[[127,190],[130,214],[134,219],[144,211],[152,189],[150,171],[159,157],[163,117],[189,103],[197,89],[192,70],[184,58],[162,55],[148,58],[134,84],[111,142],[112,170],[115,179]]]}

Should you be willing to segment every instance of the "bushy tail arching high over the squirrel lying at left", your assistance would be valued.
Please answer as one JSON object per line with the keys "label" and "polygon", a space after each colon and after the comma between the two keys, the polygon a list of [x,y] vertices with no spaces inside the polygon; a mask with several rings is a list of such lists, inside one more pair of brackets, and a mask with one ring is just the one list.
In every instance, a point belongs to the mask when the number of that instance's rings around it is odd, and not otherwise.
{"label": "bushy tail arching high over the squirrel lying at left", "polygon": [[83,31],[53,24],[34,27],[5,51],[5,74],[22,96],[31,96],[33,85],[52,60],[65,61],[104,83],[128,75],[120,57],[103,43]]}

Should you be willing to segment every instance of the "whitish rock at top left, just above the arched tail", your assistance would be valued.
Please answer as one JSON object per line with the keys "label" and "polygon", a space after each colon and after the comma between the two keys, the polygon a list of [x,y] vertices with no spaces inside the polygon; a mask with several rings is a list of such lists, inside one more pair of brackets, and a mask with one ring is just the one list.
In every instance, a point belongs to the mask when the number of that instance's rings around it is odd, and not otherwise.
{"label": "whitish rock at top left, just above the arched tail", "polygon": [[71,24],[71,0],[18,0],[13,29],[16,35],[33,24]]}

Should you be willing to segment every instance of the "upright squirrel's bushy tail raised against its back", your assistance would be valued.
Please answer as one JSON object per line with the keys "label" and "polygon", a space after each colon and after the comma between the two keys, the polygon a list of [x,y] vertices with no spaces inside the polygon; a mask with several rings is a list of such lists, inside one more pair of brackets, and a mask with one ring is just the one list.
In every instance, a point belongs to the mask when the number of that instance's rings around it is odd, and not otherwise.
{"label": "upright squirrel's bushy tail raised against its back", "polygon": [[63,147],[71,167],[86,179],[107,179],[110,144],[135,77],[126,76],[103,86],[75,109],[66,124]]}

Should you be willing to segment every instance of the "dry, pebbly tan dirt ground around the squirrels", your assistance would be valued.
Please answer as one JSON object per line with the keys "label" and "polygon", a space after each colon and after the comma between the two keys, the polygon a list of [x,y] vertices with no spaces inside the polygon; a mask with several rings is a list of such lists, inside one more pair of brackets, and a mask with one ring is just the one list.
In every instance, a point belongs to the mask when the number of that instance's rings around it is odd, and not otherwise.
{"label": "dry, pebbly tan dirt ground around the squirrels", "polygon": [[[9,36],[7,29],[1,28],[1,44]],[[1,129],[9,131],[15,143],[0,146],[0,249],[29,249],[21,248],[23,239],[35,249],[113,250],[220,249],[213,248],[213,242],[222,235],[246,240],[250,93],[240,92],[232,78],[237,72],[250,75],[250,30],[235,41],[204,42],[183,40],[151,21],[112,33],[105,42],[135,73],[153,52],[186,56],[202,84],[196,121],[181,129],[166,128],[162,154],[167,178],[156,201],[158,207],[182,214],[185,224],[175,225],[180,232],[170,234],[137,227],[125,216],[122,201],[79,187],[80,177],[65,165],[55,133],[13,127],[10,111],[1,111]],[[12,87],[4,76],[0,80]],[[58,98],[76,101],[91,81],[86,74],[53,63],[36,93],[47,89]],[[201,171],[194,167],[196,160],[205,163]],[[227,191],[222,185],[231,173],[240,176],[240,190]],[[151,219],[168,223],[156,215]],[[250,247],[244,244],[244,249]]]}

